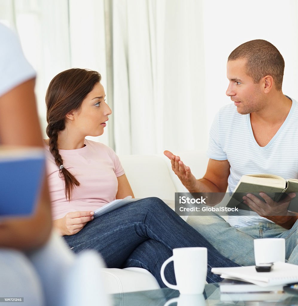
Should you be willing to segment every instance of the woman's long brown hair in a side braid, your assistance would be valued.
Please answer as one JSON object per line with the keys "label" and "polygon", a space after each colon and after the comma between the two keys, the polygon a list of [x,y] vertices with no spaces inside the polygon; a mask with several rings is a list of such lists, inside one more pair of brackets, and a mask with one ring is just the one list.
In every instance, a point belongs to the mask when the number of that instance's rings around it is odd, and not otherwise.
{"label": "woman's long brown hair in a side braid", "polygon": [[59,167],[59,177],[64,180],[65,196],[71,200],[73,189],[80,182],[63,166],[63,160],[58,150],[58,133],[65,129],[65,116],[72,110],[78,110],[84,98],[100,82],[97,71],[73,68],[57,74],[47,89],[47,136],[50,152]]}

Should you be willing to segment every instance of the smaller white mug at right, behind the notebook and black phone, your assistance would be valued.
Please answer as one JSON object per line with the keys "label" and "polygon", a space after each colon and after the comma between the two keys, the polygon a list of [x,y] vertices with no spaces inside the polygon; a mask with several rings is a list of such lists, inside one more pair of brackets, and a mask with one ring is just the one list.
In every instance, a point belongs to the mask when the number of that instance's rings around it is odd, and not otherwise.
{"label": "smaller white mug at right, behind the notebook and black phone", "polygon": [[255,264],[285,262],[284,238],[254,239]]}

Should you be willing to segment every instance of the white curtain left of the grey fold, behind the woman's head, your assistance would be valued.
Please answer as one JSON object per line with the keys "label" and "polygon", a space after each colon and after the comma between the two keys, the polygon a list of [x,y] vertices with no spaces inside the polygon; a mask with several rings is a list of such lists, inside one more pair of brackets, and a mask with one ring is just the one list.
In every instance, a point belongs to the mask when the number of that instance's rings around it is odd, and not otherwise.
{"label": "white curtain left of the grey fold, behind the woman's head", "polygon": [[[105,86],[103,0],[0,0],[0,21],[15,28],[24,54],[37,71],[35,93],[45,134],[44,97],[50,80],[77,67],[99,71]],[[109,144],[107,130],[99,139]]]}

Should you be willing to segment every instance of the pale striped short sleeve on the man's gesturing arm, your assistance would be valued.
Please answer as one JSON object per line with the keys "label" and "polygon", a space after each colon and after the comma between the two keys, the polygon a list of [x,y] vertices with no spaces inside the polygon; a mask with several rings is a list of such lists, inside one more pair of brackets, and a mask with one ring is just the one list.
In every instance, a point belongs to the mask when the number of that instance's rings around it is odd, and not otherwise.
{"label": "pale striped short sleeve on the man's gesturing arm", "polygon": [[219,126],[220,126],[220,113],[218,112],[213,120],[209,132],[209,145],[208,145],[207,155],[211,159],[226,160],[228,159],[227,155],[223,151],[220,144]]}

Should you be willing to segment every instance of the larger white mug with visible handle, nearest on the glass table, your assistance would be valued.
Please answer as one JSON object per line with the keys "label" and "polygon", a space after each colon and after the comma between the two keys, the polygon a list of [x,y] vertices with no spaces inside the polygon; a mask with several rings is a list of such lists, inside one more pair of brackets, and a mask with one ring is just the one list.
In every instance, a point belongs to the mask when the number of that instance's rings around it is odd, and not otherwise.
{"label": "larger white mug with visible handle, nearest on the glass table", "polygon": [[[165,267],[173,261],[177,285],[170,284],[165,278]],[[207,248],[174,248],[173,256],[161,267],[162,281],[181,294],[201,294],[204,291],[207,276]]]}

